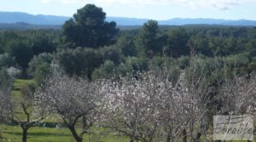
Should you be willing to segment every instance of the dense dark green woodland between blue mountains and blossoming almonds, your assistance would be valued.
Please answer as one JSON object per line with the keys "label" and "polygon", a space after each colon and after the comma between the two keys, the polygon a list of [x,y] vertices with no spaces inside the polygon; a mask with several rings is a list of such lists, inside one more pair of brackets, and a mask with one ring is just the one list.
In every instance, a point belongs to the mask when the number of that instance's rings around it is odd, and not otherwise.
{"label": "dense dark green woodland between blue mountains and blossoming almonds", "polygon": [[[92,13],[95,15],[90,15]],[[83,9],[79,9],[72,20],[67,21],[67,25],[74,26],[69,29],[70,31],[67,29],[67,32],[78,37],[82,42],[79,44],[82,45],[84,42],[86,43],[87,36],[84,36],[84,31],[81,32],[79,28],[86,26],[84,29],[96,32],[95,28],[108,23],[104,19],[105,16],[102,9],[91,4],[86,5]],[[98,25],[98,23],[102,24]],[[94,24],[96,26],[92,26]],[[77,31],[76,28],[78,28]],[[64,29],[63,31],[65,32]],[[112,35],[112,39],[116,36],[119,36],[119,39],[116,44],[111,46],[105,46],[112,43],[104,42],[102,39],[104,44],[95,43],[96,40],[100,40],[101,36],[99,35],[102,35],[100,32],[97,34],[91,34],[88,38],[88,41],[91,42],[91,47],[88,48],[96,48],[93,51],[97,54],[96,57],[82,54],[84,51],[80,54],[79,51],[76,51],[77,49],[74,49],[74,51],[68,50],[68,53],[73,52],[76,53],[75,55],[67,55],[67,57],[62,55],[59,58],[63,51],[67,52],[67,48],[76,48],[79,45],[76,42],[67,42],[69,37],[67,35],[61,37],[61,31],[1,31],[0,66],[20,68],[23,73],[21,77],[32,76],[37,82],[41,82],[47,76],[54,58],[61,61],[59,62],[60,66],[70,75],[86,77],[91,77],[91,73],[100,66],[102,66],[101,68],[111,66],[111,64],[107,64],[109,61],[113,62],[117,68],[115,73],[123,75],[133,71],[148,71],[148,68],[153,69],[155,66],[161,66],[161,68],[167,66],[168,71],[171,71],[171,68],[184,70],[190,64],[190,55],[196,55],[202,60],[206,60],[208,57],[218,58],[221,64],[229,66],[226,69],[229,72],[234,72],[236,69],[237,73],[251,73],[256,68],[256,29],[251,27],[169,27],[158,26],[156,21],[149,20],[141,29],[124,30],[120,31],[119,35]],[[60,48],[57,53],[55,53],[56,48]],[[82,46],[82,48],[86,47]],[[190,49],[192,50],[190,51]],[[35,55],[42,53],[55,54],[51,55],[50,60],[43,60],[44,57],[40,55],[37,58],[43,59],[36,59],[37,61],[33,59]],[[106,62],[106,60],[109,61]],[[103,63],[107,65],[104,66]],[[27,73],[31,76],[27,76]]]}

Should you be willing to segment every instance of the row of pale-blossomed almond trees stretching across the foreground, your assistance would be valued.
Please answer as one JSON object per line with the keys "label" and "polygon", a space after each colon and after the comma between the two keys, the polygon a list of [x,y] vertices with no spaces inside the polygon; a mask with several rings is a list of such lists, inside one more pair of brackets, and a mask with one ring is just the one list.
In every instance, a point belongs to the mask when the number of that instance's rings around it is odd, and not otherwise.
{"label": "row of pale-blossomed almond trees stretching across the foreground", "polygon": [[[95,82],[57,71],[35,94],[33,88],[23,88],[24,101],[18,105],[8,91],[11,83],[2,83],[1,122],[19,125],[24,142],[29,128],[44,117],[56,116],[78,142],[84,133],[101,128],[122,133],[131,141],[199,142],[212,139],[214,115],[255,115],[255,75],[228,77],[227,71],[218,69],[208,74],[197,62],[175,80],[172,74],[177,73],[166,70]],[[9,77],[5,71],[1,74],[3,79]],[[26,121],[19,121],[16,108],[24,111]]]}

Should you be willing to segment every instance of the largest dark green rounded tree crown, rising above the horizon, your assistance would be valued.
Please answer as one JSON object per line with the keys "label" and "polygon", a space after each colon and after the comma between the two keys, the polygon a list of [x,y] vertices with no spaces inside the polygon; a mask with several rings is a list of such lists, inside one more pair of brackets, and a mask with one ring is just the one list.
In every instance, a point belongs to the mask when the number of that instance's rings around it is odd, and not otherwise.
{"label": "largest dark green rounded tree crown, rising above the horizon", "polygon": [[[118,33],[115,22],[107,22],[106,13],[93,4],[87,4],[67,20],[62,27],[67,42],[75,43],[73,48],[99,48],[115,43]],[[71,48],[71,47],[70,47]]]}

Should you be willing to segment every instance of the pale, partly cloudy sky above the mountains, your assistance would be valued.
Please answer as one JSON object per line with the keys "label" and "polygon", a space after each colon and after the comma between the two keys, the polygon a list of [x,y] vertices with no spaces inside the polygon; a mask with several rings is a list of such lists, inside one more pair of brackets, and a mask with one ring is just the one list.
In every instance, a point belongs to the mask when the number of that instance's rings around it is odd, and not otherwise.
{"label": "pale, partly cloudy sky above the mountains", "polygon": [[0,11],[72,16],[87,3],[115,17],[256,20],[256,0],[0,0]]}

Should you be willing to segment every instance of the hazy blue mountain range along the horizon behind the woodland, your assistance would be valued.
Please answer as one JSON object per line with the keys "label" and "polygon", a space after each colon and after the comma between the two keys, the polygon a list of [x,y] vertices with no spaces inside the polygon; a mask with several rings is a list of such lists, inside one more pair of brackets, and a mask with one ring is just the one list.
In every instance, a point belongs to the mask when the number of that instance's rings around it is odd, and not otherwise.
{"label": "hazy blue mountain range along the horizon behind the woodland", "polygon": [[[15,23],[23,23],[24,25],[40,25],[61,26],[66,20],[70,19],[67,16],[55,16],[44,14],[26,14],[20,12],[0,12],[0,23],[14,25]],[[118,26],[142,26],[147,22],[147,19],[125,18],[125,17],[107,17],[108,21],[115,21]],[[256,26],[256,20],[216,20],[216,19],[171,19],[159,20],[160,25],[165,26],[184,26],[184,25],[221,25],[221,26]],[[26,24],[25,24],[26,23]],[[1,26],[1,25],[0,25]]]}

